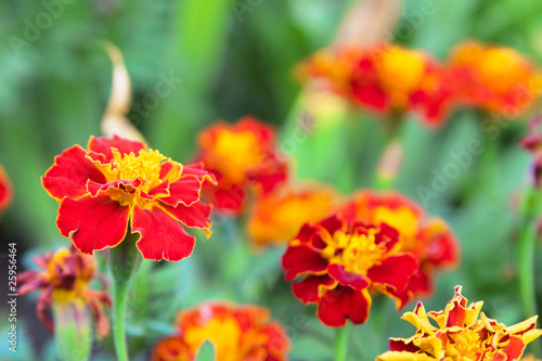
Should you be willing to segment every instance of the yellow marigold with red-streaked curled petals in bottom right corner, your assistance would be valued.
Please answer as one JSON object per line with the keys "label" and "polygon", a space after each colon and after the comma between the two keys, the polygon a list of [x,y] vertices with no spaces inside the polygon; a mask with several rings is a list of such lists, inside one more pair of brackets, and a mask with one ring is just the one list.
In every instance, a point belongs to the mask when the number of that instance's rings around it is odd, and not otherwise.
{"label": "yellow marigold with red-streaked curled petals in bottom right corner", "polygon": [[538,317],[506,326],[480,313],[482,305],[478,301],[467,306],[467,299],[461,295],[461,286],[455,287],[455,296],[443,311],[426,313],[422,302],[418,302],[414,312],[402,317],[417,328],[416,334],[410,338],[390,338],[390,351],[376,360],[519,360],[527,344],[542,334],[535,328]]}

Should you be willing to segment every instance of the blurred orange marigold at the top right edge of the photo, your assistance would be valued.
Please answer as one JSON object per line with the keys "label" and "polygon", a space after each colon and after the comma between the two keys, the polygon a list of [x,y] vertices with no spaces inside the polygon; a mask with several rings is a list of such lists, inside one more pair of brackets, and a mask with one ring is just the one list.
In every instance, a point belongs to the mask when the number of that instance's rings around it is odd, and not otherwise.
{"label": "blurred orange marigold at the top right edge of the photo", "polygon": [[462,101],[490,112],[518,115],[542,92],[542,72],[511,48],[464,41],[453,50],[451,66]]}

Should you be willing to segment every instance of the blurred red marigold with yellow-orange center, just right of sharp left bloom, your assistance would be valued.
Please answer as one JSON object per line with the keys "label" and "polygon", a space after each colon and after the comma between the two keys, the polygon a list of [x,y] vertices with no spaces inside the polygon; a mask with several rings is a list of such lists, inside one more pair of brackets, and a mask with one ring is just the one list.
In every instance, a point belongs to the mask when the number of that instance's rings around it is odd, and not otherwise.
{"label": "blurred red marigold with yellow-orange center, just right of sharp left bloom", "polygon": [[249,191],[267,194],[287,178],[274,129],[256,118],[216,123],[201,132],[198,144],[197,159],[218,179],[205,194],[225,214],[240,215]]}

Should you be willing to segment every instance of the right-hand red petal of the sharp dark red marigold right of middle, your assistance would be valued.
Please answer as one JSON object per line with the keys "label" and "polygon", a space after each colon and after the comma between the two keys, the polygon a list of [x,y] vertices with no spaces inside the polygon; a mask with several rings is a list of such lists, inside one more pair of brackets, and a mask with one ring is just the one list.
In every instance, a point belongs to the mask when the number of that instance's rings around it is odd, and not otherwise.
{"label": "right-hand red petal of the sharp dark red marigold right of middle", "polygon": [[396,291],[403,291],[410,278],[417,271],[418,263],[411,254],[391,256],[367,270],[367,278],[371,282],[382,283],[393,287]]}

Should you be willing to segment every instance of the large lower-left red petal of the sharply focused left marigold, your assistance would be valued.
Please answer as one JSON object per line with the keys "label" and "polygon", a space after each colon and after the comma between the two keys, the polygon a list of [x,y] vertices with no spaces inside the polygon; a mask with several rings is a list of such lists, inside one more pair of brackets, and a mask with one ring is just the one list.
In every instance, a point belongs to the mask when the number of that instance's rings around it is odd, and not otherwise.
{"label": "large lower-left red petal of the sharply focused left marigold", "polygon": [[86,195],[61,202],[56,225],[65,237],[74,232],[72,238],[77,249],[92,255],[94,250],[115,247],[122,241],[129,216],[130,207],[121,206],[108,195]]}

